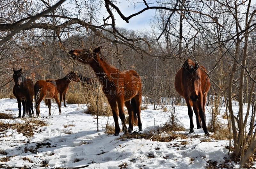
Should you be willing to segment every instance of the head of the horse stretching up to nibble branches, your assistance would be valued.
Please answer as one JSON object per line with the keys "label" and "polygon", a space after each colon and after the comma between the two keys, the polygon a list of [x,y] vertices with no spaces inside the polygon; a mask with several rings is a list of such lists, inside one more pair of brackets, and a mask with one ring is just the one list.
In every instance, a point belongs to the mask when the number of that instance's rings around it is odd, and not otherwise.
{"label": "head of the horse stretching up to nibble branches", "polygon": [[70,50],[68,54],[70,54],[73,59],[76,59],[79,62],[90,64],[96,55],[101,55],[100,49],[101,46],[93,48],[92,50],[90,48],[73,49]]}

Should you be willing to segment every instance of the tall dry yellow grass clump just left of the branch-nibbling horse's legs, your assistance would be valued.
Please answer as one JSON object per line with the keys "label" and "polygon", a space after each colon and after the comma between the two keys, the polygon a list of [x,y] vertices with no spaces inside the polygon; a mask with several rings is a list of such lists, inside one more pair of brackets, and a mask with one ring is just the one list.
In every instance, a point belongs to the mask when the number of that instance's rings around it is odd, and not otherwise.
{"label": "tall dry yellow grass clump just left of the branch-nibbling horse's legs", "polygon": [[108,100],[99,86],[70,85],[66,95],[66,102],[69,104],[86,104],[85,113],[87,114],[112,115]]}

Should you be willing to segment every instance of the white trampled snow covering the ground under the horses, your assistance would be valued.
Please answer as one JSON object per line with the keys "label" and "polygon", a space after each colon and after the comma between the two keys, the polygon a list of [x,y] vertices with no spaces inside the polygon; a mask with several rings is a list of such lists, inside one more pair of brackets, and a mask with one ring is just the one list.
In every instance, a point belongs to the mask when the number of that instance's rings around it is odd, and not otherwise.
{"label": "white trampled snow covering the ground under the horses", "polygon": [[[18,134],[14,129],[6,133],[0,132],[0,152],[2,157],[9,157],[10,161],[0,162],[0,166],[30,167],[30,168],[64,168],[82,167],[86,169],[164,169],[164,168],[206,168],[208,160],[223,162],[228,158],[229,140],[215,140],[204,136],[203,129],[194,129],[197,137],[187,139],[177,138],[171,142],[156,142],[141,138],[120,139],[119,136],[108,135],[105,132],[107,121],[114,124],[113,117],[99,116],[99,131],[97,131],[97,117],[85,114],[86,105],[67,104],[58,113],[56,103],[52,103],[52,116],[48,116],[48,107],[42,101],[40,112],[48,125],[39,127],[32,137]],[[210,119],[210,107],[206,108],[206,121]],[[188,134],[189,117],[187,106],[177,106],[177,114]],[[16,99],[0,99],[0,113],[14,114],[14,120],[1,119],[4,123],[23,123],[26,118],[18,117],[18,103]],[[156,131],[168,120],[168,112],[153,110],[153,105],[141,110],[142,133]],[[196,126],[195,115],[194,124]],[[121,121],[119,119],[121,127]],[[68,127],[66,127],[68,126]],[[138,130],[135,126],[134,130]],[[176,131],[177,132],[177,131]],[[191,134],[190,134],[191,135]],[[192,134],[193,135],[193,134]],[[29,141],[29,142],[28,142]],[[37,152],[37,143],[41,145]],[[185,143],[185,144],[184,144]],[[24,160],[24,158],[29,160]],[[47,167],[40,167],[42,162]],[[88,166],[87,166],[88,165]],[[87,166],[87,167],[86,167]],[[235,168],[239,166],[233,165]]]}

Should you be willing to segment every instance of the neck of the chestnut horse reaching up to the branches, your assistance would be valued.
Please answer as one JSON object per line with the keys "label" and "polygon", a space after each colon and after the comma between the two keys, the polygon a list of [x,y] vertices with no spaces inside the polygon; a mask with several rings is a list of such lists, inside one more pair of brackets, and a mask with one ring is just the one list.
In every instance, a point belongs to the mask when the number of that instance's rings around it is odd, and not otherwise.
{"label": "neck of the chestnut horse reaching up to the branches", "polygon": [[99,80],[102,80],[102,76],[110,77],[111,73],[116,73],[119,71],[104,60],[100,59],[98,55],[94,56],[93,61],[89,64],[96,73],[96,76],[99,78]]}

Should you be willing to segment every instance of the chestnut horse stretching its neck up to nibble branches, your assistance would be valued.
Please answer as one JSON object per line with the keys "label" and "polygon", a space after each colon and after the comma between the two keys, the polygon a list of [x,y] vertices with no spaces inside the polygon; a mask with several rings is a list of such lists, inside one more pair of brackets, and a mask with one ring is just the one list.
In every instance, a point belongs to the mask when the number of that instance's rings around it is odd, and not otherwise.
{"label": "chestnut horse stretching its neck up to nibble branches", "polygon": [[[118,112],[122,121],[124,134],[127,133],[127,127],[124,121],[124,105],[127,107],[129,114],[128,132],[132,132],[133,123],[138,121],[139,131],[142,130],[140,120],[140,104],[141,104],[141,79],[134,70],[119,71],[107,62],[101,59],[101,46],[90,50],[74,49],[69,51],[73,59],[79,62],[89,64],[100,83],[102,90],[108,99],[108,103],[112,109],[115,121],[115,136],[120,132],[118,124]],[[132,102],[132,103],[131,103]]]}

